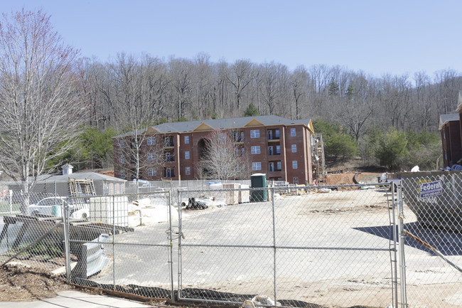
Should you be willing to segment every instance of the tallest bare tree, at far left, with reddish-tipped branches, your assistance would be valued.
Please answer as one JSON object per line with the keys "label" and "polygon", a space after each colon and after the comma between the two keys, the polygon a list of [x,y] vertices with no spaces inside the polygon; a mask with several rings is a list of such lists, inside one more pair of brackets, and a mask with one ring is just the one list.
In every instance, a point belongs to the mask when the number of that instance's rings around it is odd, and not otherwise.
{"label": "tallest bare tree, at far left, with reddish-tipped branches", "polygon": [[77,51],[41,11],[3,15],[0,24],[0,169],[30,192],[51,159],[75,144],[83,121]]}

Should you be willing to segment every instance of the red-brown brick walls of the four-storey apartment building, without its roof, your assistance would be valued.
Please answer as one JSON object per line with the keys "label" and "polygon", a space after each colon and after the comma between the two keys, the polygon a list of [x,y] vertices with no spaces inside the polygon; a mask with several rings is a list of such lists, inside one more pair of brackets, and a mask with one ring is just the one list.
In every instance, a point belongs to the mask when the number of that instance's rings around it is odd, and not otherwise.
{"label": "red-brown brick walls of the four-storey apartment building, without its roof", "polygon": [[[250,121],[250,120],[249,120]],[[288,120],[289,121],[289,120]],[[311,124],[311,122],[310,122]],[[175,123],[171,123],[175,125]],[[154,129],[156,127],[153,127]],[[146,137],[156,137],[156,146],[159,146],[157,139],[170,137],[173,140],[172,144],[165,147],[165,152],[171,152],[173,161],[165,161],[164,166],[151,166],[146,164],[142,169],[142,179],[159,180],[166,177],[166,168],[171,168],[172,173],[169,177],[173,180],[193,180],[198,179],[197,167],[200,162],[200,142],[201,139],[208,137],[213,129],[208,129],[206,126],[198,127],[199,130],[193,129],[192,132],[172,132],[167,134],[159,134],[149,132]],[[291,134],[294,129],[295,135]],[[226,130],[226,129],[225,129]],[[259,137],[255,137],[252,131],[258,131]],[[252,170],[253,173],[267,174],[267,179],[281,179],[294,182],[294,178],[298,179],[299,184],[312,183],[312,166],[311,166],[311,130],[306,124],[277,124],[277,125],[261,125],[258,122],[250,123],[247,127],[236,127],[232,132],[237,132],[239,142],[245,151],[245,155],[249,156],[253,163],[260,163],[261,169]],[[241,132],[244,135],[244,140],[240,140]],[[277,134],[279,132],[279,138]],[[188,137],[188,143],[185,142],[185,137]],[[132,179],[127,171],[132,168],[128,158],[125,163],[121,161],[122,148],[119,142],[122,139],[129,139],[130,136],[122,136],[114,138],[114,174],[117,177],[125,175],[125,179]],[[292,145],[295,145],[296,152],[292,151]],[[163,146],[163,141],[161,142]],[[259,154],[252,154],[252,147],[259,147]],[[143,142],[141,152],[147,157],[149,151],[154,149],[154,146]],[[279,153],[277,152],[279,149]],[[186,155],[188,154],[189,159]],[[297,162],[296,169],[293,168],[293,161]],[[156,175],[148,173],[149,168],[156,169]],[[186,170],[189,168],[189,174]]]}

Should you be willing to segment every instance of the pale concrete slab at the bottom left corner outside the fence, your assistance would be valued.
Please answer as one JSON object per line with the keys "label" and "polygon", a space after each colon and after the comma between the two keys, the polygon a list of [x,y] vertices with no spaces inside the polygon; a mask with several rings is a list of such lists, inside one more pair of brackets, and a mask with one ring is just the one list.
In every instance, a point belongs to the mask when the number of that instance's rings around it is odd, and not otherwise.
{"label": "pale concrete slab at the bottom left corner outside the fence", "polygon": [[144,308],[153,307],[130,299],[108,295],[92,295],[77,291],[59,292],[57,297],[34,302],[0,302],[1,308]]}

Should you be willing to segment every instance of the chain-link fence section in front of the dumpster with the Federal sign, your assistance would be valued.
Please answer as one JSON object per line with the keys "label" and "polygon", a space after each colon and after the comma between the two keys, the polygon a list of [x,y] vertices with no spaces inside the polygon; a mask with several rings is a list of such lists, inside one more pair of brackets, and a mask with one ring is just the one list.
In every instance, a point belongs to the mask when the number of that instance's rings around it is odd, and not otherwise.
{"label": "chain-link fence section in front of the dumpster with the Federal sign", "polygon": [[402,195],[408,307],[462,307],[461,173],[404,174]]}

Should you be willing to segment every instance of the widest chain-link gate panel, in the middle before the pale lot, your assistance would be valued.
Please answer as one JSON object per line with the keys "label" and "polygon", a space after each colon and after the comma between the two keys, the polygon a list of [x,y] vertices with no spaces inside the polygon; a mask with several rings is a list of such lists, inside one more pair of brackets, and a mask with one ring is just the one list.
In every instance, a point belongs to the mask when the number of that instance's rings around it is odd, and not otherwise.
{"label": "widest chain-link gate panel, in the middle before the pale lot", "polygon": [[178,191],[178,299],[397,307],[394,201],[390,186]]}

